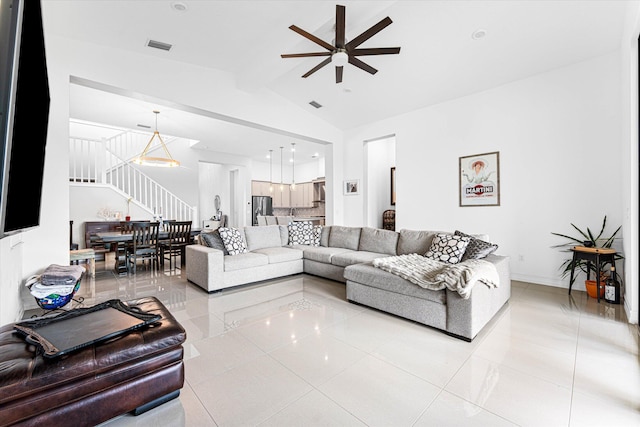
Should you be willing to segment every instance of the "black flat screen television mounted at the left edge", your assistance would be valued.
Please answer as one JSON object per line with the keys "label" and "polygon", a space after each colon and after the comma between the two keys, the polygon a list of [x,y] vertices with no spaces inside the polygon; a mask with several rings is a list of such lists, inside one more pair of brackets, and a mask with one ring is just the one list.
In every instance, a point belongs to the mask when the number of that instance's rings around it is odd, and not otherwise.
{"label": "black flat screen television mounted at the left edge", "polygon": [[0,0],[0,238],[40,225],[49,79],[40,0]]}

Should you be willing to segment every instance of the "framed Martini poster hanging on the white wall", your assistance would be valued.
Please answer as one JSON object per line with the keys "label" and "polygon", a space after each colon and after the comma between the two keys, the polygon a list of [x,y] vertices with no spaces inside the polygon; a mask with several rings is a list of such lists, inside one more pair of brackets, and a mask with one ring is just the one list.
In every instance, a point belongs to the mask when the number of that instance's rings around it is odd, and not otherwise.
{"label": "framed Martini poster hanging on the white wall", "polygon": [[460,206],[500,206],[500,153],[460,157]]}

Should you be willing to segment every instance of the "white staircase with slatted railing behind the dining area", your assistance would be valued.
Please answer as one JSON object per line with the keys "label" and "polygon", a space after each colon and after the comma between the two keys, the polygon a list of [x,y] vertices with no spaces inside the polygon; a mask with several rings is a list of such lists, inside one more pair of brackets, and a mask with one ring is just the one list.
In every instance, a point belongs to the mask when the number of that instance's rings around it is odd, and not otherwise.
{"label": "white staircase with slatted railing behind the dining area", "polygon": [[[196,209],[131,162],[149,141],[150,134],[124,131],[105,140],[69,139],[69,182],[78,185],[108,185],[126,200],[166,219],[193,221]],[[165,137],[169,144],[176,138]]]}

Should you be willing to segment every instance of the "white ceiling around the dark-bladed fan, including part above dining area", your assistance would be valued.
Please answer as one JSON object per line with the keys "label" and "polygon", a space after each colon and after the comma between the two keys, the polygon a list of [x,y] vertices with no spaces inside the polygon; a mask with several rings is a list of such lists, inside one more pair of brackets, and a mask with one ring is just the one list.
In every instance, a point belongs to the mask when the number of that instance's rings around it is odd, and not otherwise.
{"label": "white ceiling around the dark-bladed fan, including part above dining area", "polygon": [[[183,61],[233,73],[246,91],[271,90],[341,129],[402,114],[416,108],[479,92],[530,75],[599,56],[619,48],[626,1],[342,1],[346,37],[356,37],[381,19],[393,23],[361,47],[400,46],[398,55],[361,57],[377,68],[370,75],[352,65],[336,84],[328,65],[309,78],[301,75],[323,58],[282,59],[282,53],[324,49],[291,31],[292,24],[331,43],[332,1],[102,1],[43,0],[46,28],[58,35]],[[185,11],[174,9],[182,3]],[[474,40],[475,30],[487,35]],[[170,43],[169,52],[146,47],[149,39]],[[132,118],[153,126],[157,102],[127,94],[72,91],[72,117],[130,127]],[[92,102],[100,97],[100,103]],[[320,109],[308,103],[315,100]],[[100,105],[92,108],[91,105]],[[174,106],[175,107],[175,106]],[[200,127],[230,132],[227,151],[255,155],[254,138],[273,137],[274,146],[291,138],[220,123],[185,108],[163,105],[159,130],[191,139]],[[173,111],[175,110],[175,111]],[[182,110],[182,112],[178,112]],[[193,113],[186,111],[186,113]],[[175,116],[174,128],[171,125]],[[166,117],[166,123],[162,118]],[[127,119],[128,118],[128,119]],[[181,134],[184,131],[189,134]],[[251,134],[244,134],[250,131]],[[261,134],[255,134],[261,132]],[[195,133],[195,134],[194,134]],[[225,138],[226,139],[226,138]],[[280,141],[280,142],[278,142]],[[317,151],[300,141],[301,158]],[[220,147],[210,147],[219,151]],[[231,151],[233,151],[231,150]],[[306,153],[308,151],[308,153]],[[260,154],[262,160],[264,155]]]}

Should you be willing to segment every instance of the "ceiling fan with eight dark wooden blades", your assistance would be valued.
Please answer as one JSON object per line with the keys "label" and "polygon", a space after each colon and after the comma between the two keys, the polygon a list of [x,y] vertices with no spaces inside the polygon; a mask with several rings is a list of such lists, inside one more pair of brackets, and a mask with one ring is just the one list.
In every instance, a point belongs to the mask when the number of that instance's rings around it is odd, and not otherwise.
{"label": "ceiling fan with eight dark wooden blades", "polygon": [[350,40],[346,43],[344,33],[345,33],[345,7],[336,5],[336,37],[335,37],[335,46],[325,42],[324,40],[319,39],[306,32],[305,30],[292,25],[289,28],[300,34],[301,36],[311,40],[312,42],[322,46],[327,49],[328,52],[309,52],[309,53],[289,53],[280,55],[282,58],[303,58],[309,56],[328,56],[327,59],[307,71],[302,75],[303,78],[309,77],[311,74],[318,71],[320,68],[324,67],[329,63],[333,63],[336,67],[336,83],[342,82],[342,72],[344,66],[349,63],[351,65],[355,65],[356,67],[371,73],[375,74],[378,72],[375,68],[370,66],[369,64],[361,61],[356,58],[357,56],[368,56],[368,55],[391,55],[400,53],[399,47],[379,47],[379,48],[368,48],[368,49],[358,49],[365,41],[369,40],[371,37],[379,33],[381,30],[390,25],[393,21],[388,16],[360,34],[353,40]]}

